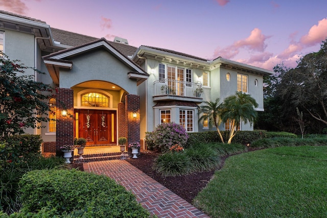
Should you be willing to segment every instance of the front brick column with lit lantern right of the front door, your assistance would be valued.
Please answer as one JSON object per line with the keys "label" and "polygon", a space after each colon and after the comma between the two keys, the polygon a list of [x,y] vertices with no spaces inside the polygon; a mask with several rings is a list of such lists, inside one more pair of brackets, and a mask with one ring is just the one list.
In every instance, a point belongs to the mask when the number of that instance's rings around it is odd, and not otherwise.
{"label": "front brick column with lit lantern right of the front door", "polygon": [[[133,113],[136,112],[136,118],[133,118]],[[127,143],[139,142],[139,96],[136,94],[127,94],[125,96],[125,115],[127,126]],[[131,154],[132,150],[128,149]]]}

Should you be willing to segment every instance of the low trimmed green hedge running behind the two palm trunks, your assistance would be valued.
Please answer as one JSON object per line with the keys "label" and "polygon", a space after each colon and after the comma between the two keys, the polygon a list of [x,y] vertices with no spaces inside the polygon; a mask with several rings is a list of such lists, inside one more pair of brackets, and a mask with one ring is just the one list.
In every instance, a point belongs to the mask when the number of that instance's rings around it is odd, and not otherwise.
{"label": "low trimmed green hedge running behind the two palm trunks", "polygon": [[[229,137],[229,131],[220,131],[224,141]],[[189,139],[186,148],[200,143],[221,142],[217,131],[193,132],[188,133]],[[266,130],[238,131],[232,139],[232,143],[249,144],[254,140],[267,137]]]}

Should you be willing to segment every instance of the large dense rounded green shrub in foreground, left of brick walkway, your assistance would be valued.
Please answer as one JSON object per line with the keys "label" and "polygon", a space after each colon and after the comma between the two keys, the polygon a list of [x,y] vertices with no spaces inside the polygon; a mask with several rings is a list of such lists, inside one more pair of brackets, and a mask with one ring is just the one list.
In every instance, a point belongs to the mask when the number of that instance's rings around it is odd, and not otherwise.
{"label": "large dense rounded green shrub in foreground, left of brick walkway", "polygon": [[52,205],[57,214],[67,213],[68,217],[150,216],[131,192],[102,175],[76,169],[32,171],[19,184],[23,212]]}

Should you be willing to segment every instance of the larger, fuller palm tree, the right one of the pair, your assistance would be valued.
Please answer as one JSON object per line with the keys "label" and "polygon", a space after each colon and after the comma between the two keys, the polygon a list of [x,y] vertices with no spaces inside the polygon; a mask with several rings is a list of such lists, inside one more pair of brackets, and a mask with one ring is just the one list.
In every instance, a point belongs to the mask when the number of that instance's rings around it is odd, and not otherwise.
{"label": "larger, fuller palm tree, the right one of the pair", "polygon": [[251,95],[241,91],[236,92],[235,95],[228,96],[224,100],[221,112],[222,121],[226,122],[229,120],[231,122],[228,144],[230,144],[231,139],[236,135],[238,131],[237,127],[240,126],[241,120],[244,124],[249,122],[252,125],[254,119],[258,116],[254,108],[258,106],[258,103],[256,103]]}

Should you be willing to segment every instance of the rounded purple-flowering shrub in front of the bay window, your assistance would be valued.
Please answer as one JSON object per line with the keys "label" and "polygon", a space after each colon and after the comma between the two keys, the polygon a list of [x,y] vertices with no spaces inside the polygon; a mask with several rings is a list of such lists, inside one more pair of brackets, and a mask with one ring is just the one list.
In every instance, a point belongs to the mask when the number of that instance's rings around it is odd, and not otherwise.
{"label": "rounded purple-flowering shrub in front of the bay window", "polygon": [[178,144],[184,147],[189,135],[186,133],[185,129],[176,123],[164,123],[158,125],[151,137],[147,140],[153,140],[154,149],[161,152],[168,152],[169,149]]}

